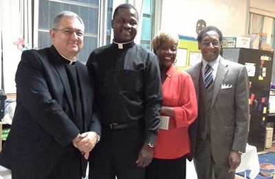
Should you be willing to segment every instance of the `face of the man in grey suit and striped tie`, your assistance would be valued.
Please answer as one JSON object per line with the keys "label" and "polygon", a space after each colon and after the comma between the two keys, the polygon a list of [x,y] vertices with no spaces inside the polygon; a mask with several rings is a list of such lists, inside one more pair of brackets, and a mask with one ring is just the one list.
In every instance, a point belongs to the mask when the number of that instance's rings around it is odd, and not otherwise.
{"label": "face of the man in grey suit and striped tie", "polygon": [[215,31],[205,32],[202,36],[201,43],[198,43],[201,55],[207,62],[216,60],[221,51],[221,42],[219,34]]}

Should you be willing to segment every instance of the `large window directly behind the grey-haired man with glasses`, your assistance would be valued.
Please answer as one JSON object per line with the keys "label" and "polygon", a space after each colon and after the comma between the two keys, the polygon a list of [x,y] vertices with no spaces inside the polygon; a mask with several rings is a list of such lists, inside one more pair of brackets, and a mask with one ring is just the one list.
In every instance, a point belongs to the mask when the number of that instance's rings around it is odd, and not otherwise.
{"label": "large window directly behind the grey-haired man with glasses", "polygon": [[52,45],[49,35],[52,19],[63,10],[70,10],[78,14],[85,24],[84,45],[77,58],[81,62],[86,62],[89,53],[98,47],[98,8],[98,0],[39,1],[38,48]]}

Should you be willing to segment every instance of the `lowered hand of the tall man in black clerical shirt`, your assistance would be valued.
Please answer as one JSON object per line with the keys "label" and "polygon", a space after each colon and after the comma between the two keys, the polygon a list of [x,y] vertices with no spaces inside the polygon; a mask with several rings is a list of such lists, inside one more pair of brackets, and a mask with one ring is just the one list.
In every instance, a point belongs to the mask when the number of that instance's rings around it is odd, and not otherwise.
{"label": "lowered hand of the tall man in black clerical shirt", "polygon": [[152,162],[152,160],[153,147],[150,147],[148,144],[144,143],[135,163],[137,164],[137,167],[146,167]]}

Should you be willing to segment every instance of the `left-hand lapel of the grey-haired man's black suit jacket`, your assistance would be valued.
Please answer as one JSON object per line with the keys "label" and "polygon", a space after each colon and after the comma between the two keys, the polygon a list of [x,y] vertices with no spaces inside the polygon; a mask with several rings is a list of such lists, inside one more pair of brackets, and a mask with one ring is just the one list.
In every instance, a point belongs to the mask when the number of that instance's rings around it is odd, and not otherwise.
{"label": "left-hand lapel of the grey-haired man's black suit jacket", "polygon": [[56,69],[57,73],[61,77],[61,81],[64,86],[67,99],[69,101],[69,105],[71,106],[72,111],[74,113],[74,102],[72,98],[72,91],[71,91],[71,87],[69,86],[69,79],[67,77],[67,72],[62,62],[62,57],[61,55],[59,55],[59,53],[56,51],[53,45],[52,47],[50,47],[50,51],[52,52],[52,56],[53,56],[53,58],[50,58],[50,61],[52,62],[52,64],[54,65],[54,68]]}

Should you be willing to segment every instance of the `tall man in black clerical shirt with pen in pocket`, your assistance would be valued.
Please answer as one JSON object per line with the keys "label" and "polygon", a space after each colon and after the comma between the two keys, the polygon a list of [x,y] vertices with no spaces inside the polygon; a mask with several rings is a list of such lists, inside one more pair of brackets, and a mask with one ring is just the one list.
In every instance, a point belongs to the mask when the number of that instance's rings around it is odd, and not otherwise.
{"label": "tall man in black clerical shirt with pen in pocket", "polygon": [[90,154],[90,179],[142,179],[153,158],[162,84],[157,57],[134,43],[138,14],[130,4],[113,13],[113,43],[91,52],[102,135]]}

